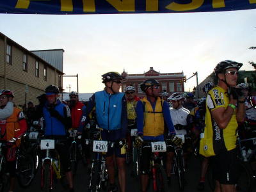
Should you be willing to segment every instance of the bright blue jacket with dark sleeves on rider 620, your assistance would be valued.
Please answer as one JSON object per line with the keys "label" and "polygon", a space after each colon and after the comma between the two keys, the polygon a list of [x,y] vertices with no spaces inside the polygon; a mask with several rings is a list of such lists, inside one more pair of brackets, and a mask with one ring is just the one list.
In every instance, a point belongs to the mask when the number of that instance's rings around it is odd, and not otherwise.
{"label": "bright blue jacket with dark sleeves on rider 620", "polygon": [[127,109],[124,93],[109,94],[105,90],[96,92],[90,98],[81,118],[79,132],[89,122],[89,114],[96,109],[97,124],[110,132],[109,140],[125,138],[127,132]]}

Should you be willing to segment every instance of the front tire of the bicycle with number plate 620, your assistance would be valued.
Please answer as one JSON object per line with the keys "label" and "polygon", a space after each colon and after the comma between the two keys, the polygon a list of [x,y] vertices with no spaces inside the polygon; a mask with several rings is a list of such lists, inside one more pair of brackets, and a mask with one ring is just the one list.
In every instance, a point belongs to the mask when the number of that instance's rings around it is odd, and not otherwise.
{"label": "front tire of the bicycle with number plate 620", "polygon": [[100,161],[95,161],[92,166],[90,173],[90,179],[88,183],[89,192],[98,192],[100,191]]}

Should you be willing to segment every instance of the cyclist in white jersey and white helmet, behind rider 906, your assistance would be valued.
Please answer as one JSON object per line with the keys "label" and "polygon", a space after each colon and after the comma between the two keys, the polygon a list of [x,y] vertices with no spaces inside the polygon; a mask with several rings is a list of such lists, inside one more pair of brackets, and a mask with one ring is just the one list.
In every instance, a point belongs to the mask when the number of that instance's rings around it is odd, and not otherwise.
{"label": "cyclist in white jersey and white helmet, behind rider 906", "polygon": [[[170,115],[172,117],[173,125],[177,132],[182,134],[188,134],[190,129],[188,126],[188,119],[189,119],[189,110],[183,108],[182,102],[184,99],[184,94],[182,93],[173,93],[168,100],[172,102],[172,108],[170,108]],[[184,159],[188,154],[188,143],[185,143],[186,146],[184,148]],[[171,170],[173,164],[173,157],[174,157],[174,148],[168,147],[166,152],[166,173],[168,182],[171,182]]]}

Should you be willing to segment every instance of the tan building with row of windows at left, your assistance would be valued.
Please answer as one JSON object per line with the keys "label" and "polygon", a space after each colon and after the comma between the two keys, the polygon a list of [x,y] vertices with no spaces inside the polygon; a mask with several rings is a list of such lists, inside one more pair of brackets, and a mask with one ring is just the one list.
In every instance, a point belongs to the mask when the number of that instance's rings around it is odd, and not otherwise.
{"label": "tan building with row of windows at left", "polygon": [[50,84],[63,86],[63,49],[28,51],[0,33],[0,89],[12,90],[15,104],[38,103]]}

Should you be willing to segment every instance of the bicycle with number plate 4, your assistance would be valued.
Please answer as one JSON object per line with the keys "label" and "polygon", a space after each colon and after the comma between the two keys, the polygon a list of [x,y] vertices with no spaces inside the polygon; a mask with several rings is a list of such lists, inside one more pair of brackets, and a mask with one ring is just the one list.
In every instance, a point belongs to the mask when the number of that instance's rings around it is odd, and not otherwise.
{"label": "bicycle with number plate 4", "polygon": [[62,145],[60,140],[41,140],[40,148],[45,150],[45,157],[42,157],[41,168],[41,189],[52,191],[54,174],[56,179],[61,180],[63,188],[67,188],[66,176],[61,169],[60,156],[55,150],[55,145]]}

